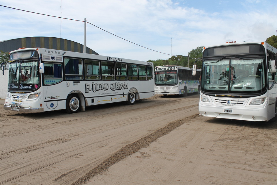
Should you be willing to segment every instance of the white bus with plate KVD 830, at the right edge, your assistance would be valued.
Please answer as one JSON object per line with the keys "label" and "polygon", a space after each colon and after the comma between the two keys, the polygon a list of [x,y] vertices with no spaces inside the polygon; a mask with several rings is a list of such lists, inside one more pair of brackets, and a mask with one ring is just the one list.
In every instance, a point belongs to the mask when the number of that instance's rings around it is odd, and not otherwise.
{"label": "white bus with plate KVD 830, at the right edge", "polygon": [[199,113],[247,121],[275,118],[276,53],[266,42],[204,47]]}

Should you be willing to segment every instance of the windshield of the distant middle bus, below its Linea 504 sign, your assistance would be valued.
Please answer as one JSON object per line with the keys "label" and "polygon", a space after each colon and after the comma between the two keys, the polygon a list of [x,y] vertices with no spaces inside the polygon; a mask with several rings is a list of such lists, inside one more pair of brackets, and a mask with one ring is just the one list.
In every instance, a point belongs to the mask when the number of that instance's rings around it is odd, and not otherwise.
{"label": "windshield of the distant middle bus, below its Linea 504 sign", "polygon": [[155,72],[155,84],[156,85],[177,85],[178,74],[177,71],[156,71]]}

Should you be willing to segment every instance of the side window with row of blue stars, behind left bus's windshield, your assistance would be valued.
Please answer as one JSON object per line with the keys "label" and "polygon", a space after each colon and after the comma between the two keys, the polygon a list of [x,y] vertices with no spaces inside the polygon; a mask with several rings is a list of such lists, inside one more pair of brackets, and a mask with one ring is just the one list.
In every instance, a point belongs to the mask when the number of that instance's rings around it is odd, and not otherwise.
{"label": "side window with row of blue stars, behind left bus's windshield", "polygon": [[[62,81],[61,64],[44,63],[44,84],[56,84]],[[49,80],[51,79],[51,80]]]}

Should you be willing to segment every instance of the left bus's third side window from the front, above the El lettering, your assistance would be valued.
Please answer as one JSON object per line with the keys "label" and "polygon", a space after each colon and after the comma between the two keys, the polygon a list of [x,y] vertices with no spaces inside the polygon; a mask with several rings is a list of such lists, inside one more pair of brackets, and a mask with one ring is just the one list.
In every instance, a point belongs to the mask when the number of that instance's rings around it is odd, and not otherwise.
{"label": "left bus's third side window from the front, above the El lettering", "polygon": [[86,80],[100,80],[99,62],[95,60],[85,60]]}

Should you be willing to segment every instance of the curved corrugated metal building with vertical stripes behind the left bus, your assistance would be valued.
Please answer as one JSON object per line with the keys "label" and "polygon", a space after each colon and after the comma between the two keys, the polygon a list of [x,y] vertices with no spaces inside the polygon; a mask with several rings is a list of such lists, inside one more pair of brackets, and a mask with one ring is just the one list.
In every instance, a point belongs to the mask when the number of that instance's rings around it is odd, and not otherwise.
{"label": "curved corrugated metal building with vertical stripes behind the left bus", "polygon": [[[75,51],[83,53],[84,46],[78,42],[56,37],[25,37],[0,41],[0,51],[10,52],[19,48],[41,47],[48,49],[58,49],[64,51]],[[92,49],[86,47],[86,53],[99,55]]]}

